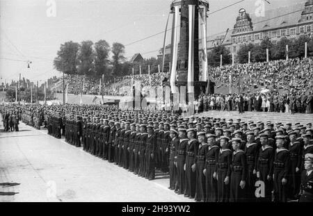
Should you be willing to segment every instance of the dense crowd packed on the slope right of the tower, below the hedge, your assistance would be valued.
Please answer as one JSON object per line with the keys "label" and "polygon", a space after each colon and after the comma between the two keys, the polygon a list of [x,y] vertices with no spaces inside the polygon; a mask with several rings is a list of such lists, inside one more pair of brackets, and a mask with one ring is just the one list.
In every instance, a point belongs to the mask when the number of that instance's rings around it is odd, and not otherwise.
{"label": "dense crowd packed on the slope right of the tower, below the hedge", "polygon": [[313,58],[211,67],[209,74],[217,90],[223,85],[229,85],[232,74],[232,84],[239,84],[243,92],[266,87],[293,92],[312,86]]}

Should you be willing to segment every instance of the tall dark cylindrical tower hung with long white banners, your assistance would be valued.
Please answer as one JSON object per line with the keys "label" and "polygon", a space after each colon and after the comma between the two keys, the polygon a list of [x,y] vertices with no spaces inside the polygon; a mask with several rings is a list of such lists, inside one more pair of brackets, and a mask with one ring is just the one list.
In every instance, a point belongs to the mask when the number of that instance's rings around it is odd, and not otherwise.
{"label": "tall dark cylindrical tower hung with long white banners", "polygon": [[[170,89],[173,94],[198,98],[207,87],[207,12],[206,0],[172,1]],[[184,88],[184,86],[186,88]],[[183,88],[181,88],[183,87]],[[188,97],[189,95],[189,97]]]}

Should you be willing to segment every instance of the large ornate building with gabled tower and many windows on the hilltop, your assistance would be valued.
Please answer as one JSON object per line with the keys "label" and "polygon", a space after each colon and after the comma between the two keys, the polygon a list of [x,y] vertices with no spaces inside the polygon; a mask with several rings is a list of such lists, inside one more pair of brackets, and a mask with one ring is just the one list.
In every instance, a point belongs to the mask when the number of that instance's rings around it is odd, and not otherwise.
{"label": "large ornate building with gabled tower and many windows on the hilltop", "polygon": [[298,38],[300,35],[313,35],[313,0],[266,10],[263,17],[241,8],[234,28],[208,38],[207,47],[209,51],[224,44],[230,53],[236,54],[242,44],[259,44],[264,38],[275,43],[284,37]]}

